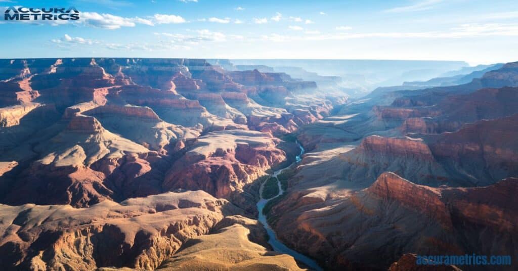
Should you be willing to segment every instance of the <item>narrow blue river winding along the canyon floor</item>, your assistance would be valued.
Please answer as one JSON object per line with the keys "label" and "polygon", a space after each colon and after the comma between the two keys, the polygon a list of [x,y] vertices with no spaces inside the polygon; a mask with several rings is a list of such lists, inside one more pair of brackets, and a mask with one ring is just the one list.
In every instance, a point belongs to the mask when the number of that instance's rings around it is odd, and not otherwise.
{"label": "narrow blue river winding along the canyon floor", "polygon": [[[300,156],[302,156],[302,154],[304,154],[304,148],[299,144],[298,141],[297,141],[297,145],[300,148],[300,154],[295,157],[295,162],[293,164],[300,162],[300,160],[302,160],[300,158]],[[291,165],[293,165],[293,164],[291,164]],[[277,176],[280,173],[282,173],[284,169],[289,168],[291,165],[288,165],[284,168],[277,170],[276,172],[274,172],[272,177],[275,177],[277,179]],[[259,211],[259,221],[261,221],[261,223],[263,223],[263,225],[266,229],[266,232],[268,233],[268,236],[269,236],[268,243],[271,245],[272,248],[274,248],[275,251],[292,255],[293,258],[295,258],[297,261],[306,264],[311,269],[322,270],[322,268],[314,260],[312,260],[311,258],[309,258],[306,255],[300,254],[297,251],[287,247],[286,245],[282,244],[281,241],[279,241],[279,239],[277,239],[277,235],[275,234],[274,230],[271,229],[270,225],[268,225],[268,222],[266,221],[266,216],[263,214],[263,209],[264,209],[264,206],[269,201],[282,195],[282,193],[284,193],[284,191],[282,190],[281,182],[279,181],[279,179],[277,179],[277,185],[279,186],[279,194],[277,194],[276,196],[269,198],[269,199],[263,198],[263,187],[264,187],[265,183],[266,183],[266,181],[263,182],[263,184],[261,184],[261,188],[259,190],[259,195],[260,195],[261,199],[259,200],[259,202],[257,202],[257,210]]]}

